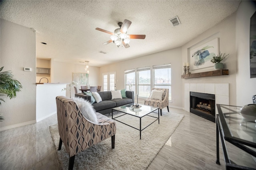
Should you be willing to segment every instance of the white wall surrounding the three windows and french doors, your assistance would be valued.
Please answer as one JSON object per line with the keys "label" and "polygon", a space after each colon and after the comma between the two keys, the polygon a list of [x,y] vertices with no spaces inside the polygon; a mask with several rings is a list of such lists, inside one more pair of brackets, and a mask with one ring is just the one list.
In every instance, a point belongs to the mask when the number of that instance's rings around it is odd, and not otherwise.
{"label": "white wall surrounding the three windows and french doors", "polygon": [[[132,47],[130,47],[132,48]],[[138,57],[136,59],[131,59],[127,61],[122,61],[119,63],[113,63],[107,66],[100,67],[100,74],[106,72],[116,71],[116,89],[125,88],[125,77],[124,70],[141,68],[145,66],[153,66],[159,64],[171,63],[172,68],[172,99],[175,99],[170,104],[170,107],[182,107],[182,81],[180,68],[181,65],[181,48],[170,49],[166,51],[161,51],[159,53],[154,53],[146,55],[143,57]],[[100,79],[102,84],[102,79]]]}

